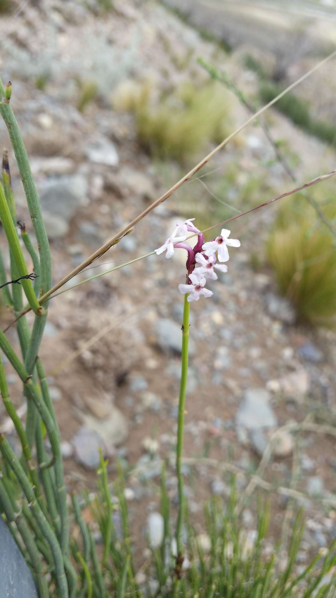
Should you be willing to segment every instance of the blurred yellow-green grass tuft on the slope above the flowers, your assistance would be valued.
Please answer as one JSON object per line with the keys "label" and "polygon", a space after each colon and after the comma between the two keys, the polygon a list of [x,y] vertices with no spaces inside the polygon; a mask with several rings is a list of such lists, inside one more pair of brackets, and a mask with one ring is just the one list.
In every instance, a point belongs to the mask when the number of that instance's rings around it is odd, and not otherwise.
{"label": "blurred yellow-green grass tuft on the slope above the flowers", "polygon": [[228,132],[227,94],[216,83],[201,89],[183,84],[156,102],[151,84],[125,83],[114,95],[114,106],[135,114],[140,144],[161,159],[183,163]]}

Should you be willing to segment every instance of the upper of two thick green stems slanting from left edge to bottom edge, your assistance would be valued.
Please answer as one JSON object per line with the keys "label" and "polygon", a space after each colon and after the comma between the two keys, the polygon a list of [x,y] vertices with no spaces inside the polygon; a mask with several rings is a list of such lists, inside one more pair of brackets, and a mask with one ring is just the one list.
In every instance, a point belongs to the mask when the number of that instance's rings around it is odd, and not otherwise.
{"label": "upper of two thick green stems slanting from left edge to bottom edge", "polygon": [[26,476],[25,471],[23,471],[19,459],[17,459],[14,451],[11,449],[10,444],[7,442],[3,434],[0,434],[0,451],[4,459],[10,464],[11,469],[13,469],[13,472],[16,475],[20,486],[22,487],[23,493],[29,502],[29,508],[32,510],[32,513],[39,525],[39,528],[41,529],[42,534],[44,535],[44,538],[50,545],[51,552],[53,553],[54,557],[59,596],[60,598],[68,598],[68,582],[66,581],[65,576],[62,550],[53,530],[51,529],[47,519],[44,517],[44,514],[39,507],[38,502],[36,501],[32,487],[30,486],[29,479]]}

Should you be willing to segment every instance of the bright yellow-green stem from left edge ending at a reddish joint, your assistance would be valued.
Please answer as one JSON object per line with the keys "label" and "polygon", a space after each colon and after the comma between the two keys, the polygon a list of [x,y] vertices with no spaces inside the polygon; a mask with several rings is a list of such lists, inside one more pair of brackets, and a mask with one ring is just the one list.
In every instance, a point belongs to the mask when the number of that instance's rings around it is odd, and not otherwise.
{"label": "bright yellow-green stem from left edge ending at a reddish joint", "polygon": [[[1,104],[0,104],[1,106]],[[0,185],[0,219],[4,227],[5,235],[8,240],[8,245],[13,254],[19,276],[26,276],[29,274],[25,258],[23,257],[22,249],[19,239],[17,237],[16,228],[14,226],[13,218],[11,216],[10,208],[5,198],[4,190]],[[32,282],[28,279],[22,280],[23,290],[27,297],[28,303],[35,313],[41,313],[41,306],[33,290]]]}

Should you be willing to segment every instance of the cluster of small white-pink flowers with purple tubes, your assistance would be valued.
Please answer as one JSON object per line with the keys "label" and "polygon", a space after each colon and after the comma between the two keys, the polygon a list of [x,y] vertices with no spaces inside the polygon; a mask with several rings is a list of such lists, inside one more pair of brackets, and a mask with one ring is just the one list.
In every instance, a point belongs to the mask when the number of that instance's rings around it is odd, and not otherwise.
{"label": "cluster of small white-pink flowers with purple tubes", "polygon": [[[227,272],[228,268],[225,264],[217,264],[219,262],[226,262],[229,259],[228,246],[240,247],[238,239],[229,239],[230,230],[222,228],[221,234],[204,243],[203,234],[193,224],[195,218],[185,220],[185,222],[176,222],[176,228],[170,237],[161,247],[155,249],[157,255],[166,251],[166,258],[171,258],[174,254],[174,249],[185,249],[188,252],[187,258],[187,284],[179,285],[179,291],[182,294],[188,293],[187,301],[198,301],[201,295],[203,297],[211,297],[213,294],[209,289],[204,288],[206,279],[211,278],[217,280],[218,276],[215,270],[219,272]],[[197,243],[194,248],[184,243],[187,239],[187,233],[197,233]],[[216,257],[217,254],[217,257]],[[196,267],[198,264],[199,267]]]}

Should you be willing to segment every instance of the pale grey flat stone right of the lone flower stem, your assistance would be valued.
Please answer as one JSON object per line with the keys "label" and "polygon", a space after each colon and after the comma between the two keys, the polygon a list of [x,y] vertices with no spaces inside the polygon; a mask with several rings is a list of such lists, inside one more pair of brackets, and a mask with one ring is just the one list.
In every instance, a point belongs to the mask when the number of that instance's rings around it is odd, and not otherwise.
{"label": "pale grey flat stone right of the lone flower stem", "polygon": [[276,428],[277,419],[270,404],[270,393],[263,388],[249,389],[244,393],[236,415],[236,425],[248,428]]}

